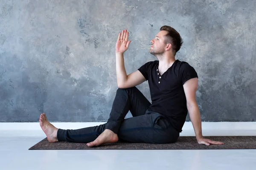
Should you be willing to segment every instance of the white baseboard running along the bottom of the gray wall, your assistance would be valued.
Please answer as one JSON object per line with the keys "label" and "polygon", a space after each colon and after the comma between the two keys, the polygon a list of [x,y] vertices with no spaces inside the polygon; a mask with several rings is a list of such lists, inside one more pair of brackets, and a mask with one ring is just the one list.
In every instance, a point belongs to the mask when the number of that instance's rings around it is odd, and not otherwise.
{"label": "white baseboard running along the bottom of the gray wall", "polygon": [[[61,129],[80,129],[96,126],[105,122],[51,122]],[[193,130],[191,122],[185,122],[183,130]],[[202,122],[203,130],[256,130],[256,122]],[[0,130],[41,130],[39,122],[0,123]]]}

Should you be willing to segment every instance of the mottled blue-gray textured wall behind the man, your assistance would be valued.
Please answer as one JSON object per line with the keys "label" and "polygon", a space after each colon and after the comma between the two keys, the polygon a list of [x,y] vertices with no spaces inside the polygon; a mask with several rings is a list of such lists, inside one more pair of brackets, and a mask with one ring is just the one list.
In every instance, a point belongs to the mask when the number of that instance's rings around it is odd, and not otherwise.
{"label": "mottled blue-gray textured wall behind the man", "polygon": [[[119,31],[130,32],[130,74],[156,59],[163,25],[198,72],[202,120],[255,121],[255,11],[254,0],[0,0],[0,122],[107,121]],[[138,88],[150,100],[147,82]]]}

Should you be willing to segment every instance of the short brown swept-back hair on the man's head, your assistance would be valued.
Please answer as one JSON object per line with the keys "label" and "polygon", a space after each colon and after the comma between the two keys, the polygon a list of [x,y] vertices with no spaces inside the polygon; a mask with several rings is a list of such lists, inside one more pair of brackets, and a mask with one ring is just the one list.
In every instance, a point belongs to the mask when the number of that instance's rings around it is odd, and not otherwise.
{"label": "short brown swept-back hair on the man's head", "polygon": [[177,53],[180,50],[181,45],[183,44],[183,40],[180,37],[180,34],[170,26],[162,26],[160,31],[167,31],[165,38],[165,43],[171,43],[172,49]]}

